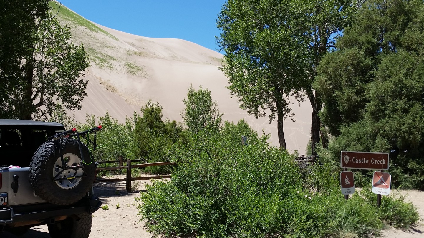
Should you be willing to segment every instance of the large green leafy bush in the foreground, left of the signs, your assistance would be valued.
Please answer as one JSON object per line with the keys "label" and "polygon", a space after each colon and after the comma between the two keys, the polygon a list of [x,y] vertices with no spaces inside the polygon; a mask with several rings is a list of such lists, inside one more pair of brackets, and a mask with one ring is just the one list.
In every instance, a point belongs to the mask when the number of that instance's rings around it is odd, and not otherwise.
{"label": "large green leafy bush in the foreground, left of the signs", "polygon": [[[248,136],[248,145],[240,134]],[[179,167],[172,180],[153,181],[137,199],[156,235],[370,237],[383,226],[375,214],[387,213],[362,194],[345,200],[331,169],[314,166],[305,177],[286,151],[270,147],[243,120],[225,122],[219,133],[192,134],[189,141],[174,149]],[[413,207],[398,204],[414,214]]]}

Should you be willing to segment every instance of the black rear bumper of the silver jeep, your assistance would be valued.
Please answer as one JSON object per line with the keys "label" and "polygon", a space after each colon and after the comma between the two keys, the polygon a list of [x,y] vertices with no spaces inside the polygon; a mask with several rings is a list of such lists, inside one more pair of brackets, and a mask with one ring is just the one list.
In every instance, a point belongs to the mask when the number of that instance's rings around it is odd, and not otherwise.
{"label": "black rear bumper of the silver jeep", "polygon": [[73,205],[60,206],[43,203],[3,208],[0,209],[0,225],[11,225],[24,221],[38,221],[41,224],[48,224],[56,217],[93,213],[100,208],[101,204],[102,202],[98,197],[92,196]]}

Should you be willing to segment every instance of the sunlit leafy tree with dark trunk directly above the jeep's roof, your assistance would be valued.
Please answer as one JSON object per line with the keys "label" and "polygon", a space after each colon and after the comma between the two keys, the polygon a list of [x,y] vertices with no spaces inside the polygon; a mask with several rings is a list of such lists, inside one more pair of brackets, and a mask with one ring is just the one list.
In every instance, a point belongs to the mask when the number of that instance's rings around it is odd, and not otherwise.
{"label": "sunlit leafy tree with dark trunk directly above the jeep's roof", "polygon": [[[58,102],[67,110],[81,109],[88,80],[80,77],[89,67],[88,57],[82,44],[70,42],[70,28],[62,27],[51,16],[48,2],[40,1],[41,6],[34,10],[36,13],[31,11],[31,17],[24,15],[35,24],[23,29],[31,40],[25,43],[27,48],[21,55],[11,56],[9,62],[14,65],[8,72],[2,72],[7,76],[2,82],[3,118],[31,120],[51,115]],[[20,3],[19,7],[25,9],[28,5]]]}

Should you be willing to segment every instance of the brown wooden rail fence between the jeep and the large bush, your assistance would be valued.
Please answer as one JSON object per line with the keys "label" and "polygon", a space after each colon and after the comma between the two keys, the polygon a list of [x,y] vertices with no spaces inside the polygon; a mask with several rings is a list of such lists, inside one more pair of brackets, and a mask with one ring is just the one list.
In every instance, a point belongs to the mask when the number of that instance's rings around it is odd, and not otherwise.
{"label": "brown wooden rail fence between the jeep and the large bush", "polygon": [[124,159],[123,156],[119,156],[119,160],[116,161],[98,161],[99,164],[104,163],[118,163],[117,167],[108,167],[108,168],[97,168],[96,172],[108,170],[118,170],[118,169],[126,169],[126,177],[119,179],[119,178],[112,178],[112,179],[96,179],[94,183],[102,183],[102,182],[120,182],[120,181],[126,181],[126,188],[127,192],[131,193],[131,181],[137,181],[137,180],[151,180],[151,179],[160,179],[160,178],[170,178],[170,175],[159,175],[159,176],[148,176],[148,177],[131,177],[131,169],[134,168],[144,168],[148,166],[162,166],[162,165],[175,165],[175,162],[158,162],[158,163],[140,163],[140,164],[131,164],[131,162],[141,162],[141,160],[126,160],[126,165],[124,166]]}

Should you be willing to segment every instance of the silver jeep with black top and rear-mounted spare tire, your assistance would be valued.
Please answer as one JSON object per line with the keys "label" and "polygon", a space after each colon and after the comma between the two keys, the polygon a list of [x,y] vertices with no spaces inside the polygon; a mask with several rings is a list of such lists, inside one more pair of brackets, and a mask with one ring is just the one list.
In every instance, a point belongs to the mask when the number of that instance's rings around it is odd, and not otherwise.
{"label": "silver jeep with black top and rear-mounted spare tire", "polygon": [[22,235],[47,224],[52,238],[89,237],[101,202],[92,189],[96,163],[81,137],[98,130],[0,119],[0,232]]}

